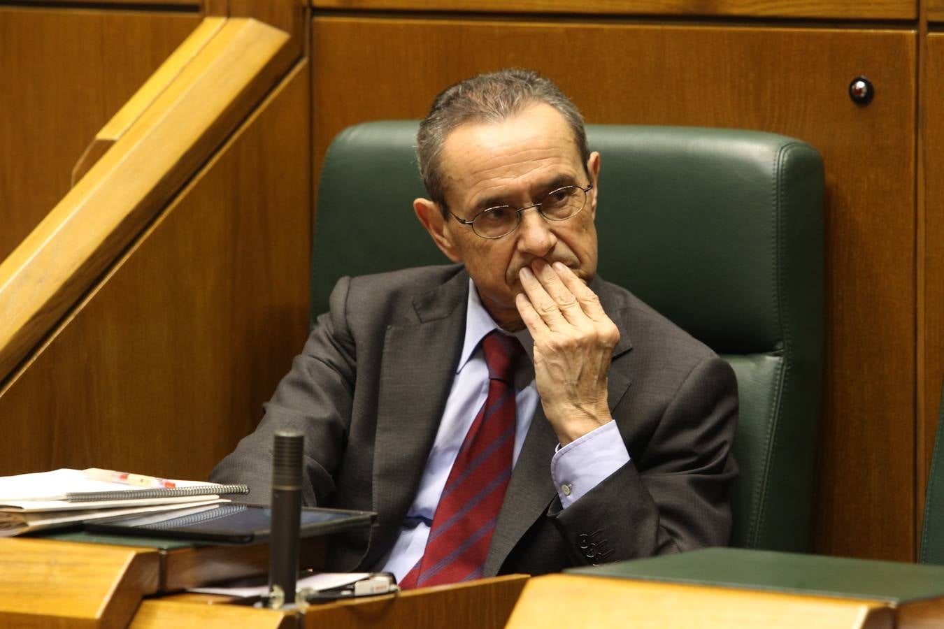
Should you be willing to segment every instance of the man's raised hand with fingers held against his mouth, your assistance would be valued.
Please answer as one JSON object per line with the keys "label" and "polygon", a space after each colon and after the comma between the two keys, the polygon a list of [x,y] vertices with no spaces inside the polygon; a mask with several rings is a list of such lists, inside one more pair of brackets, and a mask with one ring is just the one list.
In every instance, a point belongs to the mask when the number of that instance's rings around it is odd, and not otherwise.
{"label": "man's raised hand with fingers held against his mouth", "polygon": [[534,381],[561,445],[612,422],[607,371],[619,342],[593,290],[560,262],[535,260],[519,277],[515,297],[534,339]]}

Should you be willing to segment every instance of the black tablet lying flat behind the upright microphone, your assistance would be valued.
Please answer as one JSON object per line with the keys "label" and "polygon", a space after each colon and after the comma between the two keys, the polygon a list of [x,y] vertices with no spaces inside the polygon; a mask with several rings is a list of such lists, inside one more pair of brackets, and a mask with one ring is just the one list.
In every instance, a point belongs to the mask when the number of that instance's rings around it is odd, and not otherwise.
{"label": "black tablet lying flat behind the upright microphone", "polygon": [[[304,507],[298,535],[309,538],[370,526],[375,517],[376,514],[369,511]],[[85,530],[148,538],[248,544],[268,540],[271,520],[272,510],[268,505],[220,503],[93,520],[85,523]]]}

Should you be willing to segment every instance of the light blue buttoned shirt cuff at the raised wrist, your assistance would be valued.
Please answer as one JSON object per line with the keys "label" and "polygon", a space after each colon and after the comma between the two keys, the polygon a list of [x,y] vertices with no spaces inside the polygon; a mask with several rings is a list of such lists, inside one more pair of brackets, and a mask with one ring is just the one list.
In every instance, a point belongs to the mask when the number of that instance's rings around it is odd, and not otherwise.
{"label": "light blue buttoned shirt cuff at the raised wrist", "polygon": [[630,453],[619,435],[616,422],[607,422],[575,439],[563,448],[558,446],[550,459],[550,477],[567,508],[581,499],[600,481],[630,461]]}

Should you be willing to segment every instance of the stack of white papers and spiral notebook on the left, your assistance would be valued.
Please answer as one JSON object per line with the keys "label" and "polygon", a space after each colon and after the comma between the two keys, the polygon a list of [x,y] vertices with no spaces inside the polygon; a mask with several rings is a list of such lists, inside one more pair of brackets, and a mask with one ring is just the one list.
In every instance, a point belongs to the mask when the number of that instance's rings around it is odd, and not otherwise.
{"label": "stack of white papers and spiral notebook on the left", "polygon": [[93,480],[81,470],[56,470],[0,477],[0,537],[76,521],[228,502],[222,494],[247,493],[245,486],[174,481],[175,488]]}

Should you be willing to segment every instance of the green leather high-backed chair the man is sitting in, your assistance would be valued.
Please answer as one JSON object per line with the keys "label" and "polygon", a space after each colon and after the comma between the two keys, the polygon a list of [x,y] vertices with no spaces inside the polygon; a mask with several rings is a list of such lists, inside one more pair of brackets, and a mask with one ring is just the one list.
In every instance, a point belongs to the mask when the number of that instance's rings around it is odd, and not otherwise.
{"label": "green leather high-backed chair the man is sitting in", "polygon": [[[417,123],[359,124],[325,158],[312,317],[345,274],[447,263],[413,216]],[[817,151],[728,129],[589,125],[601,155],[599,274],[733,366],[733,545],[804,551],[821,407],[823,171]]]}

